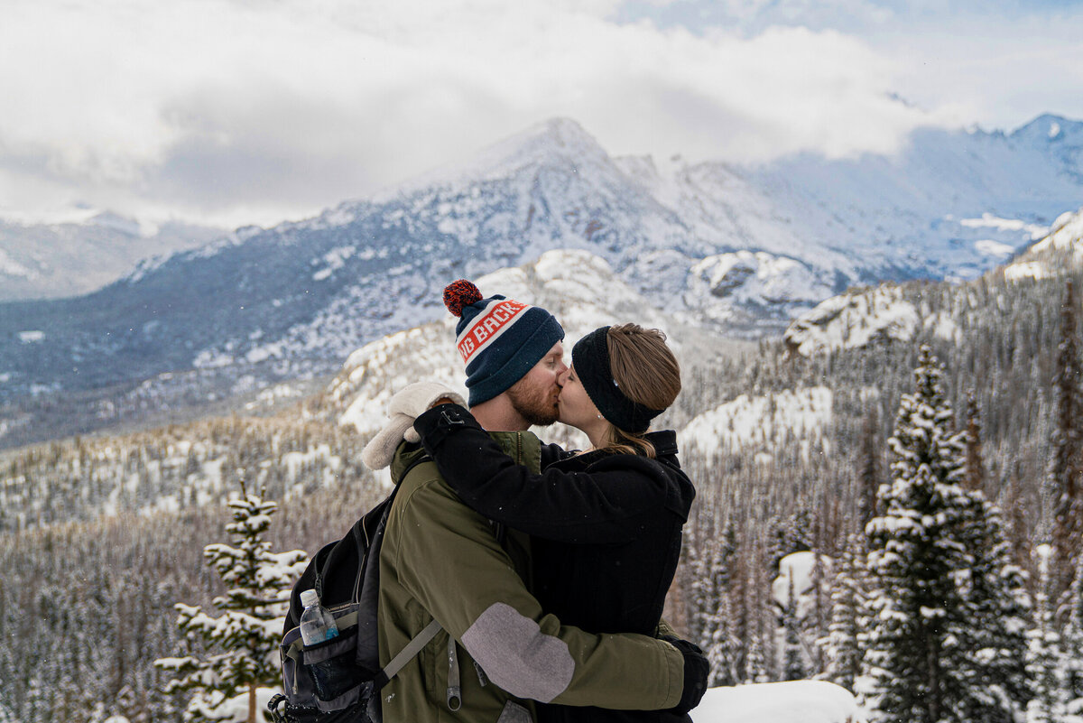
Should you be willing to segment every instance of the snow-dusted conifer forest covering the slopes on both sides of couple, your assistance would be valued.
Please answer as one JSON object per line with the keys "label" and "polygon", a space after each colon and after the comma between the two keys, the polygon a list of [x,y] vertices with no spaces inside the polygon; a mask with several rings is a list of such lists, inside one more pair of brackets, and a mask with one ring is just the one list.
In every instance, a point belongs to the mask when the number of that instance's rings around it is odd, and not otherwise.
{"label": "snow-dusted conifer forest covering the slopes on both sides of couple", "polygon": [[[678,430],[809,390],[830,413],[682,437],[666,618],[713,686],[827,680],[877,723],[1083,717],[1083,274],[897,291],[954,332],[682,358]],[[0,452],[0,722],[261,715],[290,576],[387,494],[366,442],[313,398]]]}

